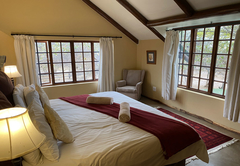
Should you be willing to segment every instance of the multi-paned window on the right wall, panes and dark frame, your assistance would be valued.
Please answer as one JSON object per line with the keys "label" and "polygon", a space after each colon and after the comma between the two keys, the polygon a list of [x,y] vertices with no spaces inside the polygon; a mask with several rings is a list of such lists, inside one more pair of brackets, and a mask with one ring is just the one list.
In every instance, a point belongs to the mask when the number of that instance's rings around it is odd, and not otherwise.
{"label": "multi-paned window on the right wall, panes and dark frame", "polygon": [[224,97],[239,25],[180,31],[178,86]]}

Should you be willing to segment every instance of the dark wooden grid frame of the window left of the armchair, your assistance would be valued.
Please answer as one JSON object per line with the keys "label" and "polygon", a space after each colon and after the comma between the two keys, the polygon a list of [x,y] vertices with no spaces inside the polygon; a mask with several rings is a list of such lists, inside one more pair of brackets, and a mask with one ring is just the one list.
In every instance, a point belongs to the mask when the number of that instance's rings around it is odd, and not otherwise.
{"label": "dark wooden grid frame of the window left of the armchair", "polygon": [[[45,43],[45,46],[46,46],[46,52],[39,52],[38,51],[38,42],[39,43]],[[70,43],[70,52],[66,52],[66,53],[70,53],[70,57],[71,57],[71,62],[64,62],[63,61],[63,50],[61,49],[60,52],[57,52],[57,53],[60,53],[61,54],[61,62],[53,62],[53,53],[56,53],[56,52],[53,52],[52,51],[52,43],[54,42],[59,42],[60,43],[60,48],[62,46],[61,43]],[[74,50],[74,43],[81,43],[82,45],[82,48],[83,48],[83,43],[90,43],[91,45],[91,51],[90,52],[87,52],[87,53],[91,53],[91,71],[92,72],[92,79],[90,80],[87,80],[86,77],[85,77],[85,72],[86,70],[84,69],[84,50],[82,49],[82,64],[83,64],[83,71],[80,71],[82,73],[84,73],[84,79],[83,80],[80,80],[78,81],[77,80],[77,71],[76,71],[76,60],[75,60],[75,53],[79,53],[79,52],[75,52]],[[95,53],[100,53],[100,50],[96,51],[94,49],[94,44],[95,43],[99,43],[99,41],[96,41],[96,40],[35,40],[35,55],[36,55],[36,66],[37,66],[37,69],[38,69],[38,79],[40,81],[40,85],[41,86],[54,86],[54,85],[63,85],[63,84],[73,84],[73,83],[81,83],[81,82],[94,82],[94,81],[98,81],[98,79],[95,78],[95,72],[96,71],[99,71],[99,69],[95,69],[95,62],[99,62],[99,61],[96,61],[95,60]],[[39,60],[39,54],[41,53],[46,53],[47,55],[47,63],[42,63],[40,62]],[[89,61],[90,62],[90,61]],[[64,71],[64,63],[70,63],[71,64],[71,69],[72,71],[70,72],[65,72]],[[41,64],[47,64],[48,65],[48,72],[47,73],[41,73],[41,67],[40,65]],[[58,74],[54,71],[54,64],[62,64],[62,71],[59,72],[59,73],[62,73],[63,74],[63,81],[62,82],[56,82],[55,81],[55,74]],[[65,77],[64,77],[64,73],[72,73],[72,81],[68,81],[68,82],[65,82]],[[49,75],[49,82],[48,83],[43,83],[42,82],[42,75],[46,75],[48,74]]]}

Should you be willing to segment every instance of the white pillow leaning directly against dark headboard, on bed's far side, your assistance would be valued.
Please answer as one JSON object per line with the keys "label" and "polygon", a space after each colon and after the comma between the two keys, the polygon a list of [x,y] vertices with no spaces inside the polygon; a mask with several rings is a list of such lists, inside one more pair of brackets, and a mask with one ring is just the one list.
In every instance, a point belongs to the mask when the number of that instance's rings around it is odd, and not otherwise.
{"label": "white pillow leaning directly against dark headboard, on bed's far side", "polygon": [[21,107],[27,107],[27,104],[25,102],[24,94],[23,94],[24,86],[21,84],[18,84],[14,87],[13,90],[13,101],[15,105],[20,105]]}

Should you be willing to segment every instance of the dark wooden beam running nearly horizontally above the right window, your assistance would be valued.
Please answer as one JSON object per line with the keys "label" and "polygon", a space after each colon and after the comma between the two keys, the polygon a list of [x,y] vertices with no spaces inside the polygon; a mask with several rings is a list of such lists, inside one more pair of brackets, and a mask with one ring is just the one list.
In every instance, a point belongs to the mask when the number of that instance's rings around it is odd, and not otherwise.
{"label": "dark wooden beam running nearly horizontally above the right window", "polygon": [[167,17],[163,19],[157,19],[148,21],[148,26],[158,26],[158,25],[164,25],[164,24],[170,24],[170,23],[176,23],[181,21],[187,21],[187,20],[193,20],[193,19],[200,19],[200,18],[206,18],[211,16],[219,16],[224,14],[232,14],[232,13],[239,13],[240,12],[240,3],[228,5],[228,6],[222,6],[202,11],[196,11],[192,16],[187,17],[184,15],[178,15],[173,17]]}

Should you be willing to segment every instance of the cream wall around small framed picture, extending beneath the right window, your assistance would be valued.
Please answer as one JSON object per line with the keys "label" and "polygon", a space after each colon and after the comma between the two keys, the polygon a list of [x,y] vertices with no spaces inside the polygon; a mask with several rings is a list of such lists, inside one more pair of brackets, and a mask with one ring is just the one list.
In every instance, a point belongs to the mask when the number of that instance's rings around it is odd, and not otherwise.
{"label": "cream wall around small framed picture, extending beneath the right window", "polygon": [[[161,97],[163,47],[164,43],[161,40],[144,40],[140,41],[137,46],[137,68],[146,70],[145,80],[143,83],[143,95],[159,100],[168,106],[183,109],[190,113],[208,118],[220,125],[240,132],[239,123],[234,123],[226,118],[223,118],[223,99],[181,88],[178,88],[176,101],[166,101]],[[147,64],[147,50],[157,50],[156,65]],[[157,88],[156,92],[152,90],[153,86]]]}

